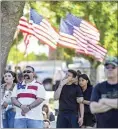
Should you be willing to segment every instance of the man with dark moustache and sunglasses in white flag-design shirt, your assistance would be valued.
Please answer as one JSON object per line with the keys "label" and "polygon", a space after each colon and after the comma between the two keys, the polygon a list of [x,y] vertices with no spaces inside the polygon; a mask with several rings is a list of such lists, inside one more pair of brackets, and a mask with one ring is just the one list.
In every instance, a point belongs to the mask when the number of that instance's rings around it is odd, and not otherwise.
{"label": "man with dark moustache and sunglasses in white flag-design shirt", "polygon": [[14,128],[43,128],[42,106],[45,100],[44,86],[34,79],[35,71],[26,66],[23,82],[13,90],[12,102],[16,106]]}

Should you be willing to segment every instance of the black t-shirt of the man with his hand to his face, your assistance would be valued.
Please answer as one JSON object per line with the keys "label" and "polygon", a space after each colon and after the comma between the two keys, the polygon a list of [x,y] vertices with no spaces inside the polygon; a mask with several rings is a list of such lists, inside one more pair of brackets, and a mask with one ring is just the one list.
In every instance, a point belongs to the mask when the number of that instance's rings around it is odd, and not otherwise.
{"label": "black t-shirt of the man with his hand to his face", "polygon": [[59,99],[59,111],[78,113],[77,97],[83,97],[78,85],[64,85]]}

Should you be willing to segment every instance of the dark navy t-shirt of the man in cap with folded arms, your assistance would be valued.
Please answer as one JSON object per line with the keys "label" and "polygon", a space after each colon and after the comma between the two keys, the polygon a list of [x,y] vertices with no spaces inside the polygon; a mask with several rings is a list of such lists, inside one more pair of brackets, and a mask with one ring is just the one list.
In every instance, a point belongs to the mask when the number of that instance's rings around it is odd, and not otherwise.
{"label": "dark navy t-shirt of the man in cap with folded arms", "polygon": [[[92,92],[91,101],[101,98],[118,98],[118,84],[110,85],[107,81],[99,83]],[[98,128],[118,128],[118,109],[96,114]]]}

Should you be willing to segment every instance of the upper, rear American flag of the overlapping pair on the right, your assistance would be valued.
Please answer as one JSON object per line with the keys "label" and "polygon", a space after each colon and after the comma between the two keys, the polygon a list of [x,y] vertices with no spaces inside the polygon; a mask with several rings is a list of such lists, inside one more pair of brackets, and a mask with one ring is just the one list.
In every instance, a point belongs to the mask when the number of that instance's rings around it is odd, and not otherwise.
{"label": "upper, rear American flag of the overlapping pair on the right", "polygon": [[72,14],[68,14],[66,16],[66,21],[74,26],[74,34],[77,35],[78,39],[80,38],[93,44],[97,44],[99,42],[99,31],[87,21]]}

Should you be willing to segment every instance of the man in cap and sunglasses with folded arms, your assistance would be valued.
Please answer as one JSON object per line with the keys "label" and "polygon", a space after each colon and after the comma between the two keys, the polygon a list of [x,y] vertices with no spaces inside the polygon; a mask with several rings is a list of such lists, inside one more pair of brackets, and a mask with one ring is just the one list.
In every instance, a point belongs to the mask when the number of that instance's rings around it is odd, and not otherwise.
{"label": "man in cap and sunglasses with folded arms", "polygon": [[107,80],[94,87],[90,109],[97,128],[118,128],[118,58],[108,57],[104,66]]}

